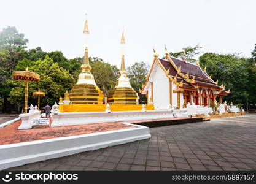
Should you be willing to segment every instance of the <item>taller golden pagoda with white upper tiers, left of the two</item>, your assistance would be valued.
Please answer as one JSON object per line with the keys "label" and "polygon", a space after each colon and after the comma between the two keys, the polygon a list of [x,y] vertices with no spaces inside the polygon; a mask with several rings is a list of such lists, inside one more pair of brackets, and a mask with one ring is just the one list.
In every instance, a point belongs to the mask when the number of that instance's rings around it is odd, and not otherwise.
{"label": "taller golden pagoda with white upper tiers, left of the two", "polygon": [[79,74],[79,79],[76,85],[73,86],[69,93],[70,104],[103,104],[103,92],[98,88],[95,83],[93,74],[91,74],[91,66],[89,64],[88,56],[88,23],[85,20],[85,55],[83,56],[83,64],[81,65],[82,72]]}

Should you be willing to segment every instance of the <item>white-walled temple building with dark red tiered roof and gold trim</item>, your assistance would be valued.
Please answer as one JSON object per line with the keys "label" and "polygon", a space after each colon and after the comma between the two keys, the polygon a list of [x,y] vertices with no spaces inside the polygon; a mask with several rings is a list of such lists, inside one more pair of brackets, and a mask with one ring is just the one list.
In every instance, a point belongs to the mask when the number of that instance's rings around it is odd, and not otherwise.
{"label": "white-walled temple building with dark red tiered roof and gold trim", "polygon": [[174,58],[166,50],[165,59],[155,53],[141,93],[147,96],[147,104],[154,104],[157,109],[182,109],[188,102],[210,107],[219,98],[222,103],[229,90],[225,91],[223,84],[219,86],[218,81],[214,82],[199,63]]}

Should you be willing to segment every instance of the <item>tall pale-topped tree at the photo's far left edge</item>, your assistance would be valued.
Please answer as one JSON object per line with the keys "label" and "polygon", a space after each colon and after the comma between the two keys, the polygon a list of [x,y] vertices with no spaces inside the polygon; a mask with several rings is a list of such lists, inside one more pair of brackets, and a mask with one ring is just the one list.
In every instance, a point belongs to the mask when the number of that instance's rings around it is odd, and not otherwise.
{"label": "tall pale-topped tree at the photo's far left edge", "polygon": [[12,78],[17,62],[23,59],[27,43],[28,39],[25,39],[23,33],[18,33],[15,27],[8,26],[0,32],[0,96],[4,112],[12,110],[12,105],[7,100],[12,86],[7,80]]}

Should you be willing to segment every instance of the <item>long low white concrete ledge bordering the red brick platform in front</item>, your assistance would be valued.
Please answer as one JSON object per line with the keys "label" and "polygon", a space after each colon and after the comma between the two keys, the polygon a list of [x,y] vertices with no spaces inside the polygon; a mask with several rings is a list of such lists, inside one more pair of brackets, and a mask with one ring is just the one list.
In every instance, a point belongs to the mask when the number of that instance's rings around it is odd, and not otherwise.
{"label": "long low white concrete ledge bordering the red brick platform in front", "polygon": [[0,169],[96,150],[112,145],[125,144],[150,138],[149,128],[140,125],[117,131],[82,134],[79,136],[36,140],[17,144],[0,145]]}

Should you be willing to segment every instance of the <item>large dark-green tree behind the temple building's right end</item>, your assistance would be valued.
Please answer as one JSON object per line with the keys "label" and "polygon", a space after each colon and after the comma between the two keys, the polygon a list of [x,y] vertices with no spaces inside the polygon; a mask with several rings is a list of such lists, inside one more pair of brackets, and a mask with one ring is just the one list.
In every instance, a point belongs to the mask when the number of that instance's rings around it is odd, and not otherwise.
{"label": "large dark-green tree behind the temple building's right end", "polygon": [[205,53],[200,56],[200,66],[206,67],[208,74],[214,81],[225,85],[225,90],[230,89],[230,94],[224,97],[233,104],[247,104],[249,98],[249,72],[247,71],[248,59],[236,54],[219,55]]}

